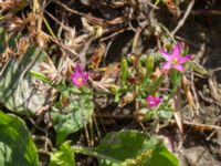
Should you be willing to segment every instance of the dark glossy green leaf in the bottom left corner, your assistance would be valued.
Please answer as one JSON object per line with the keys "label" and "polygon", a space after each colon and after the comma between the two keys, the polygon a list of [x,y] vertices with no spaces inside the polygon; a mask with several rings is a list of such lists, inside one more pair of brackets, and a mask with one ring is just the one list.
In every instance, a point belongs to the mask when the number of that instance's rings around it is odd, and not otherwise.
{"label": "dark glossy green leaf in the bottom left corner", "polygon": [[0,112],[0,165],[39,166],[38,153],[25,123]]}

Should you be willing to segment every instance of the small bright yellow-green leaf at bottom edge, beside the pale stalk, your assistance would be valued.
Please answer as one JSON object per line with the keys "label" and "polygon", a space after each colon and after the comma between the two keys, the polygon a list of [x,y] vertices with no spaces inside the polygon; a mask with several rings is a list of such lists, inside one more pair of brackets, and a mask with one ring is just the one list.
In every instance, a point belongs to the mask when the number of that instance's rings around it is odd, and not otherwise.
{"label": "small bright yellow-green leaf at bottom edge, beside the pale stalk", "polygon": [[49,166],[75,166],[74,153],[71,148],[71,142],[63,143],[60,151],[51,154]]}

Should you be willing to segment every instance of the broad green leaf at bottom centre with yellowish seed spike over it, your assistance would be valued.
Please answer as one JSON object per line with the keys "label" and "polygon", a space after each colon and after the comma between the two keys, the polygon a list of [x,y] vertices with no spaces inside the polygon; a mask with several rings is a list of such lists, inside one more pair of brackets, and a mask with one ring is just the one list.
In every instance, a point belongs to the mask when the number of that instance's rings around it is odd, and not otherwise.
{"label": "broad green leaf at bottom centre with yellowish seed spike over it", "polygon": [[179,165],[178,159],[156,137],[135,131],[107,134],[95,152],[114,158],[99,159],[101,166],[158,166],[159,160],[164,162],[164,166]]}

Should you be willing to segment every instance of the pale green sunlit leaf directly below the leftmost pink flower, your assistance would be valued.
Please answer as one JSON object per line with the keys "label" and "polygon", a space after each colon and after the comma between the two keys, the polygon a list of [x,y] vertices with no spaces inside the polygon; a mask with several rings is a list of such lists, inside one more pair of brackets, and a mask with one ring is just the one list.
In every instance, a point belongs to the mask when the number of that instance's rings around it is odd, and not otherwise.
{"label": "pale green sunlit leaf directly below the leftmost pink flower", "polygon": [[56,131],[56,145],[63,143],[71,133],[83,128],[92,117],[94,105],[92,95],[70,94],[70,104],[65,107],[56,105],[51,113]]}

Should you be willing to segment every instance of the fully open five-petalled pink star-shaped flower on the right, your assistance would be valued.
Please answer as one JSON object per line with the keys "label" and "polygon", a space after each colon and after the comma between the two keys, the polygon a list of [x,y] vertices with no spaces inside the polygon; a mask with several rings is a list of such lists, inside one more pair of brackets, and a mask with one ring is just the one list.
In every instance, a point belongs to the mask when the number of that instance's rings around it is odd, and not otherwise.
{"label": "fully open five-petalled pink star-shaped flower on the right", "polygon": [[191,54],[181,56],[181,45],[179,43],[175,45],[172,53],[168,53],[162,50],[160,50],[159,52],[167,61],[162,66],[162,69],[167,71],[170,69],[177,69],[178,71],[183,72],[185,69],[182,66],[182,63],[192,59]]}

